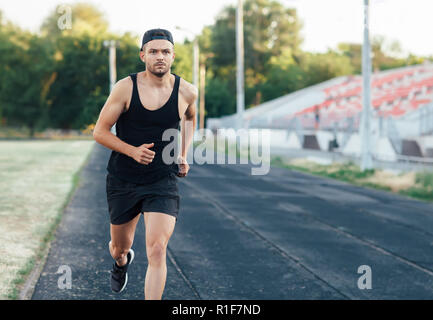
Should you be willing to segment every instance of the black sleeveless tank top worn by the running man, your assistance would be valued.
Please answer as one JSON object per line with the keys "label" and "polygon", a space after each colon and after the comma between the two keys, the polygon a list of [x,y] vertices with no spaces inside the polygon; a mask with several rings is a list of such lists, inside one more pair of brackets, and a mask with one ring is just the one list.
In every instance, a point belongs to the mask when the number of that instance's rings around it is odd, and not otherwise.
{"label": "black sleeveless tank top worn by the running man", "polygon": [[[152,111],[141,104],[137,89],[137,74],[130,74],[133,83],[131,103],[128,110],[122,113],[116,122],[116,136],[135,147],[153,142],[154,146],[150,150],[155,151],[155,157],[150,164],[145,165],[113,150],[107,165],[107,171],[110,174],[119,179],[140,184],[154,183],[159,179],[177,174],[179,167],[176,162],[166,164],[162,161],[162,150],[169,143],[176,144],[175,150],[179,150],[177,139],[181,120],[178,109],[180,77],[174,73],[173,75],[175,82],[170,98],[161,108]],[[170,140],[163,141],[162,135],[167,129],[176,129],[171,130],[176,135],[170,132]],[[172,149],[170,156],[174,157]]]}

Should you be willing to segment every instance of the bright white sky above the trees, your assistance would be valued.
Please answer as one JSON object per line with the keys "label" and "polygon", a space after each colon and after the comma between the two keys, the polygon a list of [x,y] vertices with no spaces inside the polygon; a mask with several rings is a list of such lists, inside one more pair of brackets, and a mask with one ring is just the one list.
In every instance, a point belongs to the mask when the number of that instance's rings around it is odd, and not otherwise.
{"label": "bright white sky above the trees", "polygon": [[[43,19],[58,4],[83,0],[0,0],[6,19],[22,28],[38,31]],[[192,39],[206,25],[213,24],[226,5],[237,0],[88,0],[105,13],[110,29],[142,35],[152,28],[166,28],[175,41]],[[339,42],[363,41],[364,0],[279,0],[294,7],[303,21],[302,48],[326,52]],[[73,13],[72,13],[73,14]],[[382,35],[399,41],[403,53],[432,55],[432,0],[370,0],[370,36]],[[180,26],[189,31],[176,30]]]}

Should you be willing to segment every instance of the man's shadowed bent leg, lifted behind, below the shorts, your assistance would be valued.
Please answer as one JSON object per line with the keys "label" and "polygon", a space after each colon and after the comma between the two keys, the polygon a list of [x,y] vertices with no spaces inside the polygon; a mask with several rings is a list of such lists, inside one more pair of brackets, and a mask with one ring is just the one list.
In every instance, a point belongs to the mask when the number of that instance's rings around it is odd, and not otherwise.
{"label": "man's shadowed bent leg, lifted behind, below the shorts", "polygon": [[110,225],[111,241],[108,247],[111,256],[119,267],[124,266],[128,261],[126,256],[134,242],[135,228],[139,218],[140,214],[127,223]]}

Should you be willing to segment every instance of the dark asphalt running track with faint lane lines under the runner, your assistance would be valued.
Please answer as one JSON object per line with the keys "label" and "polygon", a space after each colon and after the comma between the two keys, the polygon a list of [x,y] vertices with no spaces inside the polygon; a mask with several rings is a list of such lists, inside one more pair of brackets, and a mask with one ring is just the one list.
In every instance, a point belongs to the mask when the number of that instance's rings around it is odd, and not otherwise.
{"label": "dark asphalt running track with faint lane lines under the runner", "polygon": [[[110,290],[105,193],[110,150],[95,143],[33,299],[144,299],[144,222],[121,294]],[[164,300],[432,299],[433,205],[272,168],[192,165],[168,244]],[[72,288],[59,289],[59,266]],[[358,288],[358,267],[372,271]]]}

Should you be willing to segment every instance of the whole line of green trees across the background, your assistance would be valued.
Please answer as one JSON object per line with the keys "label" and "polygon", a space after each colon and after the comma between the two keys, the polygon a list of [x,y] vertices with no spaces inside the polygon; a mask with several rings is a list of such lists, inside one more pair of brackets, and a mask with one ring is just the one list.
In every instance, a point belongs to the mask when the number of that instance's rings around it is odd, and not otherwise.
{"label": "whole line of green trees across the background", "polygon": [[[95,123],[109,94],[108,50],[118,41],[118,79],[145,69],[139,60],[142,35],[110,32],[94,6],[77,3],[72,28],[58,27],[57,8],[32,33],[9,22],[0,10],[0,125],[84,129]],[[301,49],[303,23],[293,8],[273,0],[244,3],[245,106],[254,107],[304,87],[361,73],[361,44],[341,43],[326,53]],[[324,35],[325,36],[325,35]],[[227,6],[199,35],[206,68],[205,116],[236,111],[236,8]],[[193,45],[175,44],[172,72],[192,82]],[[399,44],[372,41],[373,69],[422,63],[432,57],[396,58]]]}

